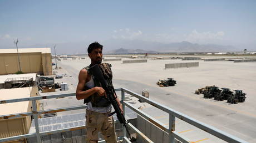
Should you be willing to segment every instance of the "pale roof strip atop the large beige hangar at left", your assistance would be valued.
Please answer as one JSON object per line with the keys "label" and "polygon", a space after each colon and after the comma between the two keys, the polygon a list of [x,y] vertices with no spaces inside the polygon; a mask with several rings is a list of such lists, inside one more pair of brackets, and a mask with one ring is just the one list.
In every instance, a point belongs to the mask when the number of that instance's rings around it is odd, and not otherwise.
{"label": "pale roof strip atop the large beige hangar at left", "polygon": [[[51,48],[18,48],[19,53],[51,53]],[[0,49],[0,54],[17,53],[17,49]]]}

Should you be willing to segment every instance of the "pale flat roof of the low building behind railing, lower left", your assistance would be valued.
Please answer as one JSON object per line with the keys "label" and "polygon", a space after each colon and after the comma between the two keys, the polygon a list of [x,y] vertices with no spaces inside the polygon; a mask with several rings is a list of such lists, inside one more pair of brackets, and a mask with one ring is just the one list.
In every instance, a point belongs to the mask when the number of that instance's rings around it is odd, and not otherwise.
{"label": "pale flat roof of the low building behind railing, lower left", "polygon": [[[29,98],[32,87],[0,89],[0,100]],[[0,115],[25,113],[28,110],[29,101],[0,104]]]}

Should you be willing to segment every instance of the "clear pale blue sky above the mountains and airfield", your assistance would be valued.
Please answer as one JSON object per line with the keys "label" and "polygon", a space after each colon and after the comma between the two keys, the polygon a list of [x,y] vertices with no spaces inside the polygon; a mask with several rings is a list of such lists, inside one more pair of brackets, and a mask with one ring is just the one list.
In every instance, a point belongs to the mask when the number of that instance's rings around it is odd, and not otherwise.
{"label": "clear pale blue sky above the mountains and airfield", "polygon": [[18,38],[19,48],[56,44],[58,54],[85,53],[94,41],[123,40],[250,50],[256,49],[255,7],[256,1],[247,0],[0,1],[0,48],[16,48]]}

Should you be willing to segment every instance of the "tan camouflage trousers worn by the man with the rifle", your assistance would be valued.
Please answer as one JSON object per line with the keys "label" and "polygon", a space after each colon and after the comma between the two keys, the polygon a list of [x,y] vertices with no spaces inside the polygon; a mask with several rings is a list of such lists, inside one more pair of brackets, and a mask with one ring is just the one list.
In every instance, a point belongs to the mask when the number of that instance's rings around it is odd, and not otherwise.
{"label": "tan camouflage trousers worn by the man with the rifle", "polygon": [[86,142],[97,142],[99,131],[107,143],[117,142],[114,120],[112,116],[108,117],[108,114],[110,113],[97,113],[86,110]]}

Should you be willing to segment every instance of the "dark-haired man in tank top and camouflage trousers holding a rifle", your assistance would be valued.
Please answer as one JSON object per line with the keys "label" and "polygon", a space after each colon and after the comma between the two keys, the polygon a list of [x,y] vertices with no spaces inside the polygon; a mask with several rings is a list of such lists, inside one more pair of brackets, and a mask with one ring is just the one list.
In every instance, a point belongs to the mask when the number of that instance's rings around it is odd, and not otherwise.
{"label": "dark-haired man in tank top and camouflage trousers holding a rifle", "polygon": [[[87,141],[98,142],[98,132],[100,131],[104,136],[105,141],[107,143],[112,143],[117,142],[117,137],[115,133],[114,120],[112,116],[107,116],[111,113],[111,104],[107,102],[106,92],[101,88],[99,81],[95,80],[95,78],[87,71],[87,69],[93,65],[101,64],[102,48],[103,46],[98,42],[94,42],[89,45],[87,52],[88,57],[91,59],[91,64],[80,70],[78,75],[79,81],[76,89],[76,98],[78,100],[84,99],[84,103],[87,103]],[[122,105],[119,99],[116,98],[116,101],[122,111]]]}

